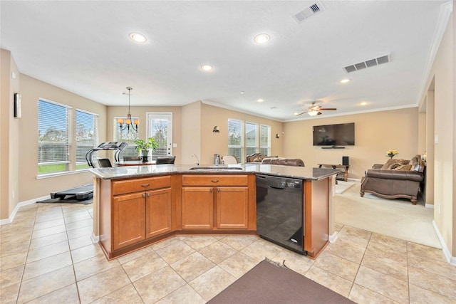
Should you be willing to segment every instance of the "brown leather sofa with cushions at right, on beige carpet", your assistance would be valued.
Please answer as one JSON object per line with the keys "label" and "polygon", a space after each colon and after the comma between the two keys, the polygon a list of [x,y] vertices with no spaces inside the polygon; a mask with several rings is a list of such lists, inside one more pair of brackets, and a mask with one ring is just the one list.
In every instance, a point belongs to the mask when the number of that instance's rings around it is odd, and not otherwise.
{"label": "brown leather sofa with cushions at right, on beige carpet", "polygon": [[366,170],[361,182],[361,197],[366,192],[385,199],[410,199],[417,203],[420,185],[424,179],[425,162],[420,155],[409,159],[389,159],[383,165],[375,164]]}

